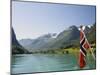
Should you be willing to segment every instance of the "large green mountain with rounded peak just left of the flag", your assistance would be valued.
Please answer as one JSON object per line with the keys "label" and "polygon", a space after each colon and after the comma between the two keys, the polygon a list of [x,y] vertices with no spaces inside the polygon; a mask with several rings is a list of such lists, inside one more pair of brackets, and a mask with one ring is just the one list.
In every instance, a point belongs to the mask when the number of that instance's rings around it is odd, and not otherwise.
{"label": "large green mountain with rounded peak just left of the flag", "polygon": [[59,49],[71,46],[79,46],[79,30],[74,25],[59,33],[54,40],[48,42],[42,48]]}

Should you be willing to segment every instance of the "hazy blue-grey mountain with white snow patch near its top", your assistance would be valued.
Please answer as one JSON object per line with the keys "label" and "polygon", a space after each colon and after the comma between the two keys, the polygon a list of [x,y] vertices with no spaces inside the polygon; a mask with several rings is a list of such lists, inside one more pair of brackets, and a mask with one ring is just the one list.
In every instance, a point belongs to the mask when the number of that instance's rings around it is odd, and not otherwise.
{"label": "hazy blue-grey mountain with white snow patch near its top", "polygon": [[37,50],[40,49],[42,46],[47,44],[49,41],[52,41],[56,37],[56,33],[48,33],[43,36],[34,39],[31,44],[24,46],[28,50]]}

